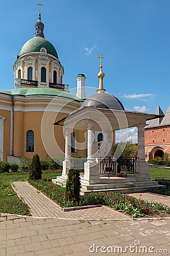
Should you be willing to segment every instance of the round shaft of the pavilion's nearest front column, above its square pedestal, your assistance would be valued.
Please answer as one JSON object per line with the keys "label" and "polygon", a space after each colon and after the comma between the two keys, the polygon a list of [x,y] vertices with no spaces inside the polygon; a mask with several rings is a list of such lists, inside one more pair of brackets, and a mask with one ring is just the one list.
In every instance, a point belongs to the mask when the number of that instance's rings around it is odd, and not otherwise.
{"label": "round shaft of the pavilion's nearest front column, above its square pedestal", "polygon": [[87,129],[87,162],[96,162],[95,160],[95,123],[89,122]]}

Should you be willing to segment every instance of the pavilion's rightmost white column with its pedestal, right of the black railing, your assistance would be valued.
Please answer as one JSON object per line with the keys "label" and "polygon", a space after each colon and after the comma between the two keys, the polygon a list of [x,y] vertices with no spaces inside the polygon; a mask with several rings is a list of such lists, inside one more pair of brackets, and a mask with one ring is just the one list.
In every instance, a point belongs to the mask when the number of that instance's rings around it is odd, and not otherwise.
{"label": "pavilion's rightmost white column with its pedestal, right of the black railing", "polygon": [[146,123],[138,125],[138,161],[137,161],[137,177],[141,181],[149,181],[148,163],[145,161],[145,131]]}

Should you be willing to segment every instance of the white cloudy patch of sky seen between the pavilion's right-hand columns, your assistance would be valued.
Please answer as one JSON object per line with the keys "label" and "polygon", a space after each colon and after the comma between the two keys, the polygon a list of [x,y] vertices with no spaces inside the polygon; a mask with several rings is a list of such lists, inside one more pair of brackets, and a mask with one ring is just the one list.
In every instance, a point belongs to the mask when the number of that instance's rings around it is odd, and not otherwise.
{"label": "white cloudy patch of sky seen between the pavilion's right-hand columns", "polygon": [[138,131],[137,127],[116,131],[116,142],[132,141],[133,143],[137,143],[138,141],[137,131]]}

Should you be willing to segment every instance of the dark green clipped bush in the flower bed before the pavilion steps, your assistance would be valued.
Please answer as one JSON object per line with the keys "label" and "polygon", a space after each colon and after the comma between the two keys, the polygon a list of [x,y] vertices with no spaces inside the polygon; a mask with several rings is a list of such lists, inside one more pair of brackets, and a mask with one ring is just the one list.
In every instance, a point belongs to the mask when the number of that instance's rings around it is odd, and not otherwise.
{"label": "dark green clipped bush in the flower bed before the pavilion steps", "polygon": [[80,197],[80,174],[77,170],[70,169],[66,181],[66,200],[79,203]]}

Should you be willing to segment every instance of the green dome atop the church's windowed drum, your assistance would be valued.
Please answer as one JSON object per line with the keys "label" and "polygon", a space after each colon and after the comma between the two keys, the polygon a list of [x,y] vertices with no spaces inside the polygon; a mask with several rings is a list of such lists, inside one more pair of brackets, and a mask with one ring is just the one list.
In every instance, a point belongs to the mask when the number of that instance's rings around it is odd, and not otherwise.
{"label": "green dome atop the church's windowed drum", "polygon": [[23,55],[24,53],[28,52],[40,52],[40,49],[44,47],[46,49],[46,52],[57,57],[58,59],[58,54],[56,49],[54,48],[53,44],[50,43],[48,40],[45,38],[39,38],[39,37],[34,37],[29,39],[24,46],[22,47],[19,56]]}

